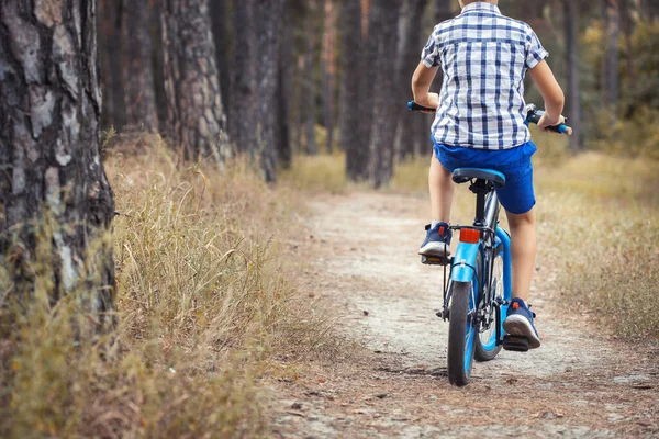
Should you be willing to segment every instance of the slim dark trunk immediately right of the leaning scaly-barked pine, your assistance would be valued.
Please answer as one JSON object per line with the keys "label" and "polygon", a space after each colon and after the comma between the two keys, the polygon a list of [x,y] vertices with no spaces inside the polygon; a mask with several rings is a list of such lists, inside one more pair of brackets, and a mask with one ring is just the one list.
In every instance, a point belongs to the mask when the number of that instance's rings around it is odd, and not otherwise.
{"label": "slim dark trunk immediately right of the leaning scaly-barked pine", "polygon": [[230,134],[239,151],[256,158],[257,80],[254,0],[234,3],[234,58],[231,75]]}

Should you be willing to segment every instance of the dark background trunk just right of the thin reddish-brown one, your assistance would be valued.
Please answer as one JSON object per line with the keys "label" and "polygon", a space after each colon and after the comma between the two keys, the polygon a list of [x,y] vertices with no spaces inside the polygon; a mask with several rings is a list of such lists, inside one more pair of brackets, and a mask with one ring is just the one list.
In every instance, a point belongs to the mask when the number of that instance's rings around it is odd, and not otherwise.
{"label": "dark background trunk just right of the thin reddish-brown one", "polygon": [[357,1],[344,1],[340,7],[342,24],[342,77],[339,142],[346,151],[346,173],[353,181],[362,178],[360,162],[366,157],[364,145],[359,143],[360,114],[359,102],[362,99],[360,85],[361,58],[361,5]]}

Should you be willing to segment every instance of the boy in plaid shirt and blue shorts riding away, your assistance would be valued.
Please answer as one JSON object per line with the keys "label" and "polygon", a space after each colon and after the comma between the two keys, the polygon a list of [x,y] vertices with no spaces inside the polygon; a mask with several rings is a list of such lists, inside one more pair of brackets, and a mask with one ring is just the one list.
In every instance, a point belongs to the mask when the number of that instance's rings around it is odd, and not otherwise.
{"label": "boy in plaid shirt and blue shorts riding away", "polygon": [[[530,164],[536,147],[524,125],[526,71],[545,100],[541,130],[565,122],[565,97],[545,61],[549,54],[534,31],[502,15],[498,3],[460,0],[461,14],[435,26],[412,78],[414,101],[437,109],[428,177],[433,222],[418,252],[449,251],[454,169],[488,168],[505,175],[505,188],[496,192],[511,228],[513,301],[503,327],[507,334],[526,337],[535,349],[540,339],[526,301],[536,256]],[[429,93],[439,67],[444,70],[442,92]]]}

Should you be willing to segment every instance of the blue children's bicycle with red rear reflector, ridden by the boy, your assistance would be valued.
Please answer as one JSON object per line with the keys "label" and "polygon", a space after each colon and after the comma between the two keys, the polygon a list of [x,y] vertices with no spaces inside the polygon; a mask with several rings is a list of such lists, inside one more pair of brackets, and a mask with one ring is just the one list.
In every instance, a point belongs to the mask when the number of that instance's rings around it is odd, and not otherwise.
{"label": "blue children's bicycle with red rear reflector, ridden by the boy", "polygon": [[[434,111],[409,103],[413,111]],[[527,106],[526,123],[537,123],[543,112]],[[567,125],[554,126],[569,133]],[[511,237],[499,226],[501,210],[495,189],[505,185],[505,176],[491,169],[460,168],[454,182],[469,182],[476,194],[476,218],[471,226],[451,226],[459,232],[455,256],[422,256],[422,262],[444,267],[444,304],[437,316],[448,320],[448,380],[466,385],[473,360],[490,361],[501,349],[527,351],[528,340],[504,334],[503,320],[512,300]],[[450,267],[447,272],[447,267]],[[448,279],[448,282],[447,282]]]}

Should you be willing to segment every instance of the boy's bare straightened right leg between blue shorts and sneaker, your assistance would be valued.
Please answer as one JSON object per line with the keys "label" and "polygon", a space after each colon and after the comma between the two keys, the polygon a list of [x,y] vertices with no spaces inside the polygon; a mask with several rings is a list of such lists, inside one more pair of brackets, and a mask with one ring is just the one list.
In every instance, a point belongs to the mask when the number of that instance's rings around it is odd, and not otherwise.
{"label": "boy's bare straightened right leg between blue shorts and sneaker", "polygon": [[522,215],[506,212],[511,228],[511,257],[513,259],[513,297],[528,301],[530,280],[535,269],[536,229],[532,209]]}

